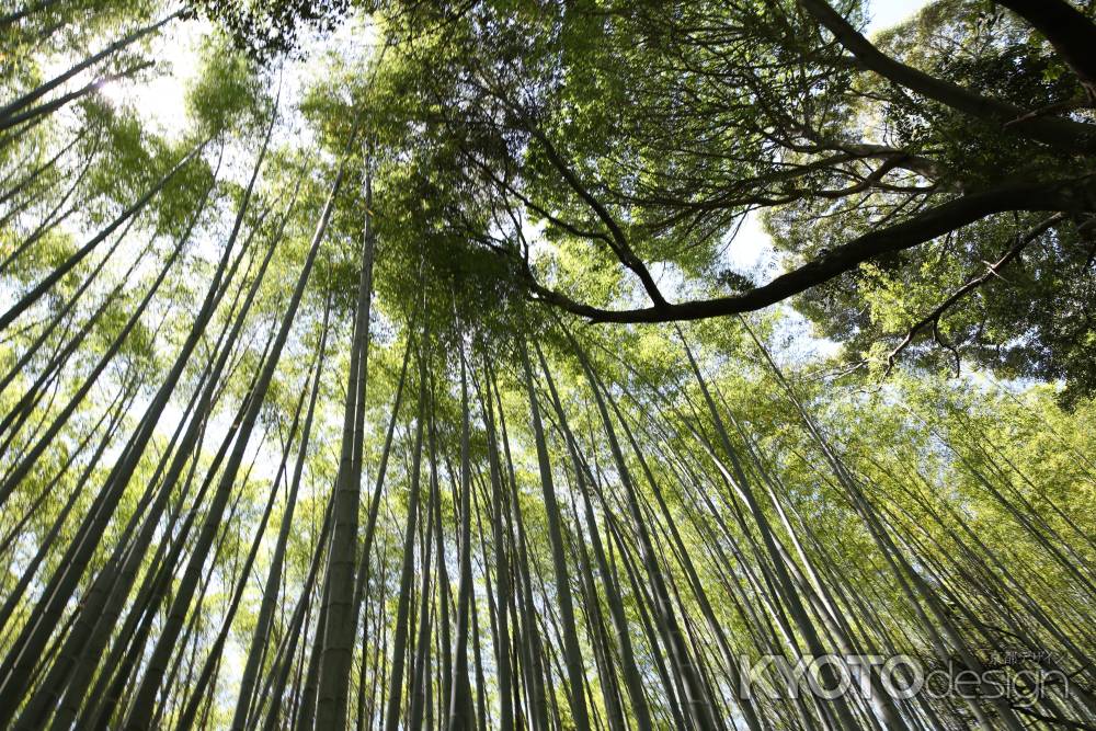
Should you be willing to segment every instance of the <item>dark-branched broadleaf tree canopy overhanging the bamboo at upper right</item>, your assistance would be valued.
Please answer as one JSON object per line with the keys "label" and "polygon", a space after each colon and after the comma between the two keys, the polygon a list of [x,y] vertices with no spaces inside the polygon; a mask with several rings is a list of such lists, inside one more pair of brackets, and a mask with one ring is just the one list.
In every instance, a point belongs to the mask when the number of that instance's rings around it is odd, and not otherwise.
{"label": "dark-branched broadleaf tree canopy overhanging the bamboo at upper right", "polygon": [[[801,295],[850,361],[909,350],[1092,392],[1096,28],[1068,2],[935,2],[874,39],[857,3],[823,0],[361,11],[391,48],[361,107],[401,98],[429,174],[464,183],[441,225],[533,298],[661,322]],[[265,59],[351,10],[207,12]],[[728,266],[747,220],[776,275]],[[555,255],[530,256],[529,226]]]}

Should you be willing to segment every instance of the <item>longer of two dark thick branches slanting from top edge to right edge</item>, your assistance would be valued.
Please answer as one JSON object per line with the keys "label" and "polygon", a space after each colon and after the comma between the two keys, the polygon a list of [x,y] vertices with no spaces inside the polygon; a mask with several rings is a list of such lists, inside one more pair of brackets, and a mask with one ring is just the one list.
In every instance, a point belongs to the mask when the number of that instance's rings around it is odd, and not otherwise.
{"label": "longer of two dark thick branches slanting from top edge to right edge", "polygon": [[[1041,0],[1039,0],[1041,2]],[[1031,117],[1014,104],[982,96],[969,89],[897,61],[876,48],[861,33],[842,18],[826,0],[799,0],[837,42],[869,71],[923,96],[946,104],[972,117],[992,122],[1005,129],[1071,152],[1096,151],[1096,126],[1055,117]],[[1011,123],[1011,124],[1009,124]]]}

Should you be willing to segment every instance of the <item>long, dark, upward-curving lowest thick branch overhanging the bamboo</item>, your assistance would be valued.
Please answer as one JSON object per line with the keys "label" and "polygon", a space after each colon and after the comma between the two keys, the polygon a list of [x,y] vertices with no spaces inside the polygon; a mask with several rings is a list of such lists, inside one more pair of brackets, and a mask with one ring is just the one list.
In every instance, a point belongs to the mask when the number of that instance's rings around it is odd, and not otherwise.
{"label": "long, dark, upward-curving lowest thick branch overhanging the bamboo", "polygon": [[1086,176],[1054,183],[1013,183],[964,195],[924,210],[909,220],[865,233],[766,285],[728,297],[670,304],[660,308],[607,310],[578,302],[535,282],[532,287],[538,299],[595,322],[671,322],[750,312],[829,282],[868,260],[911,249],[1007,210],[1096,212],[1096,179]]}

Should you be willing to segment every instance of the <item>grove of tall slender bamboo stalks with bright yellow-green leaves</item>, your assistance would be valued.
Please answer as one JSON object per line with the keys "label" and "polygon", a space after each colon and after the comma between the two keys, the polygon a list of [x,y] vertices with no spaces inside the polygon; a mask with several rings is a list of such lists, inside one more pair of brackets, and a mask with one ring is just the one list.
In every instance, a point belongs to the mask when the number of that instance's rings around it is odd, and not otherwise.
{"label": "grove of tall slender bamboo stalks with bright yellow-green leaves", "polygon": [[1091,397],[527,297],[366,21],[2,10],[0,727],[1096,728]]}

